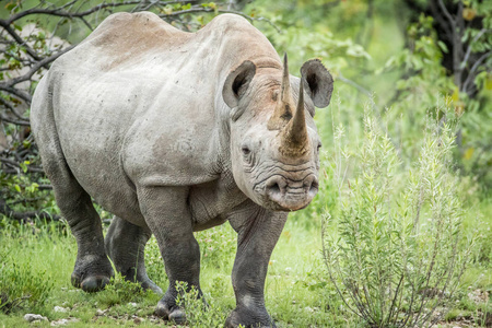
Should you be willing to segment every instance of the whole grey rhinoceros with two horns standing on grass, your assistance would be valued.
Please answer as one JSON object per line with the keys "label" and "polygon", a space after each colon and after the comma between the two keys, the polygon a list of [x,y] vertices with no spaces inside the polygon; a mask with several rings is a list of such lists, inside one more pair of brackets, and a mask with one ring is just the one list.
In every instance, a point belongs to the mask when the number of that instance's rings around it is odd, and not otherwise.
{"label": "whole grey rhinoceros with two horns standing on grass", "polygon": [[[176,282],[200,291],[194,232],[237,232],[236,308],[225,326],[274,327],[263,300],[289,211],[318,190],[313,116],[333,80],[317,59],[290,75],[247,20],[222,14],[185,33],[153,13],[117,13],[58,58],[34,94],[44,169],[78,244],[72,284],[103,289],[116,270],[145,289],[153,234],[169,281],[156,307],[183,323]],[[103,237],[93,200],[113,213]],[[109,258],[109,259],[108,259]]]}

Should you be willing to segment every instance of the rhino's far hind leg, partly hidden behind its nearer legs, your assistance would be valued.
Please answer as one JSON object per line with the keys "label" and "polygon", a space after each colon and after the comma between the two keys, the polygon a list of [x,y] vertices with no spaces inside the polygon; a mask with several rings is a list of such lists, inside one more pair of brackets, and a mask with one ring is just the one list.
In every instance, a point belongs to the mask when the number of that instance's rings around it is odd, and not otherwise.
{"label": "rhino's far hind leg, partly hidden behind its nearer legs", "polygon": [[149,230],[114,216],[104,244],[116,270],[126,280],[139,282],[144,290],[162,294],[162,290],[147,276],[144,249],[150,237]]}

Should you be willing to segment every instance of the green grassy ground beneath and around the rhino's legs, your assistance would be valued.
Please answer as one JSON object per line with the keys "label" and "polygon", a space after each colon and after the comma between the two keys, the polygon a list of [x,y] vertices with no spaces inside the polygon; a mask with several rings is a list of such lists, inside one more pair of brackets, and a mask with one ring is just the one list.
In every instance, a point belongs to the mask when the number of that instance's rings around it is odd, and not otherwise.
{"label": "green grassy ground beneath and around the rhino's legs", "polygon": [[[442,321],[445,327],[490,327],[492,318],[489,292],[492,290],[490,268],[491,201],[472,207],[466,229],[479,230],[473,256],[453,301],[453,308]],[[478,211],[484,215],[477,215]],[[358,318],[345,312],[326,277],[320,255],[318,219],[301,214],[290,218],[272,255],[266,283],[266,303],[279,327],[358,327]],[[311,221],[307,221],[311,220]],[[315,220],[315,221],[313,221]],[[60,232],[61,230],[61,232]],[[225,320],[235,300],[230,272],[235,254],[235,233],[223,226],[197,234],[201,246],[201,284],[211,307],[201,313],[195,325],[214,327]],[[62,319],[70,327],[172,326],[153,315],[160,296],[139,291],[133,284],[116,278],[107,290],[87,294],[70,285],[75,259],[74,238],[66,227],[5,224],[0,234],[0,286],[2,293],[32,295],[17,300],[8,314],[0,312],[0,327],[48,327]],[[149,274],[165,288],[166,277],[159,258],[155,239],[147,249]],[[15,271],[16,270],[16,271]],[[61,307],[58,308],[58,307]],[[5,308],[4,308],[5,311]],[[25,314],[39,314],[47,321],[28,324]],[[220,323],[220,324],[219,324]]]}

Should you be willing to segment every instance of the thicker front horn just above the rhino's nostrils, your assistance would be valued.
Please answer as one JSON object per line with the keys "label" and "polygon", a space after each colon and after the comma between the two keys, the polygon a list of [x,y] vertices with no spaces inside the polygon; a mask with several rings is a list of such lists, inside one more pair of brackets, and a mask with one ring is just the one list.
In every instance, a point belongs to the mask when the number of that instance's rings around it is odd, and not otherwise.
{"label": "thicker front horn just above the rhino's nostrils", "polygon": [[298,103],[294,117],[280,133],[280,152],[289,157],[302,157],[309,151],[306,116],[304,113],[304,87],[300,83]]}

